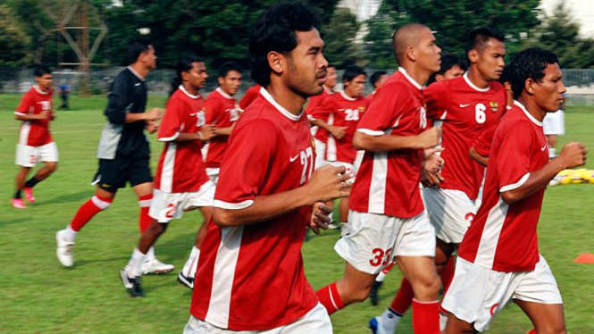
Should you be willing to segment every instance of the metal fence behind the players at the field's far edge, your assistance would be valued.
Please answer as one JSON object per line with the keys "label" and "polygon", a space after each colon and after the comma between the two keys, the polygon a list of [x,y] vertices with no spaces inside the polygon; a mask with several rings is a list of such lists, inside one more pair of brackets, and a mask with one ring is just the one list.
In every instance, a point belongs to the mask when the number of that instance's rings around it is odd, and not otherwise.
{"label": "metal fence behind the players at the field's far edge", "polygon": [[[112,67],[105,70],[91,71],[82,73],[78,71],[58,70],[54,71],[54,84],[57,86],[62,82],[67,82],[71,91],[75,94],[79,92],[81,85],[87,81],[88,93],[91,95],[105,95],[109,90],[109,85],[116,75],[123,70],[123,67]],[[367,69],[368,74],[374,70]],[[594,69],[566,69],[564,72],[564,83],[567,87],[568,104],[588,104],[594,105]],[[151,71],[146,78],[146,84],[150,95],[168,95],[170,82],[175,74],[174,70],[155,70]],[[339,78],[341,71],[339,71]],[[0,68],[0,93],[23,93],[27,91],[35,80],[33,71],[26,69]],[[243,71],[243,83],[238,92],[238,97],[243,96],[247,88],[254,84],[249,78],[249,71]],[[206,82],[204,92],[210,93],[217,88],[216,72],[211,71],[211,75]],[[365,93],[369,94],[372,88],[366,85]]]}

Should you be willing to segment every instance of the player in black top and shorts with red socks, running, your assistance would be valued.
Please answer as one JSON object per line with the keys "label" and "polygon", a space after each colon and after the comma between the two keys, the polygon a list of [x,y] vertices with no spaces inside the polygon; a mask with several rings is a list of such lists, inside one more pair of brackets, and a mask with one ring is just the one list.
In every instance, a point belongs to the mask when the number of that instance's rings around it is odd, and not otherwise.
{"label": "player in black top and shorts with red socks, running", "polygon": [[[145,113],[146,82],[148,72],[156,67],[155,48],[145,40],[134,40],[128,46],[130,66],[114,79],[108,96],[105,116],[107,123],[101,133],[97,158],[95,196],[81,205],[71,223],[56,235],[56,255],[65,267],[73,263],[72,249],[79,230],[97,213],[107,209],[119,188],[130,186],[138,196],[140,213],[138,225],[144,232],[153,221],[148,209],[153,198],[153,177],[148,165],[150,147],[145,129],[154,133],[155,121],[161,119],[161,109],[153,108]],[[159,262],[154,248],[148,251],[143,263],[144,273],[172,271],[171,264]]]}

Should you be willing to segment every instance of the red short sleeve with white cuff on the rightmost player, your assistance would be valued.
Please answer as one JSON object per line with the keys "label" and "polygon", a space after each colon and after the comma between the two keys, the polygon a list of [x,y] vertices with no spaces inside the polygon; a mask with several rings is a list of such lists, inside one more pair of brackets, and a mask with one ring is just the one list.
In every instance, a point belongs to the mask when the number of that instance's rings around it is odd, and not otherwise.
{"label": "red short sleeve with white cuff on the rightmost player", "polygon": [[496,166],[500,193],[522,187],[530,177],[533,141],[531,124],[518,121],[504,136]]}

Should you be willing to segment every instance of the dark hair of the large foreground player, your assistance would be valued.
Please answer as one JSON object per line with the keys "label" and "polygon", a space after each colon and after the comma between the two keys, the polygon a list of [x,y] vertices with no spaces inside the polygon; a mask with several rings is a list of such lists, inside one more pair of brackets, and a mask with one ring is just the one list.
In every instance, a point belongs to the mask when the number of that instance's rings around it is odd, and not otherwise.
{"label": "dark hair of the large foreground player", "polygon": [[260,86],[267,87],[272,72],[268,53],[276,51],[289,54],[297,47],[296,31],[309,31],[319,26],[317,13],[301,2],[283,2],[266,9],[249,35],[247,62],[252,79]]}

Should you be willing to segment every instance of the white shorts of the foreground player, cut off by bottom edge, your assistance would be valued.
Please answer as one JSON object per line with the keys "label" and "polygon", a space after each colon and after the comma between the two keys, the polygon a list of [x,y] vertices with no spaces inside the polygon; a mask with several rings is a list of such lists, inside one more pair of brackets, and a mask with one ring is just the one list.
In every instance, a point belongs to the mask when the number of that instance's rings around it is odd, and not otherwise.
{"label": "white shorts of the foreground player, cut off by bottom edge", "polygon": [[183,334],[332,334],[328,312],[318,303],[297,321],[272,330],[224,330],[190,315]]}

